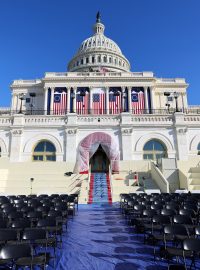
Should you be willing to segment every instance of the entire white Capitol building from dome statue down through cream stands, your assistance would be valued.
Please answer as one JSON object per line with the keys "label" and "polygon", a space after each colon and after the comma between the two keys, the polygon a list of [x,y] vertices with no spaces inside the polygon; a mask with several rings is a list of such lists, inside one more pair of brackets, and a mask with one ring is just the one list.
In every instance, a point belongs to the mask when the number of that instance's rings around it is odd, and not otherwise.
{"label": "entire white Capitol building from dome statue down through cream stands", "polygon": [[[92,172],[109,174],[113,201],[146,190],[200,189],[200,107],[183,78],[132,72],[97,14],[67,72],[14,80],[0,108],[0,192],[73,193],[88,201]],[[31,180],[32,179],[32,180]]]}

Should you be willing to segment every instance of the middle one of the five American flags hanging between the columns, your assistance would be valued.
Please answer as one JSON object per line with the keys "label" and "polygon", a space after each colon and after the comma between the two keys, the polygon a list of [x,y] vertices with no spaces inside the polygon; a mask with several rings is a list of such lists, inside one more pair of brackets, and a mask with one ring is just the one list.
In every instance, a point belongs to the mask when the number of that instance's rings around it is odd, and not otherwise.
{"label": "middle one of the five American flags hanging between the columns", "polygon": [[94,114],[105,114],[106,94],[94,93],[92,95],[92,109]]}

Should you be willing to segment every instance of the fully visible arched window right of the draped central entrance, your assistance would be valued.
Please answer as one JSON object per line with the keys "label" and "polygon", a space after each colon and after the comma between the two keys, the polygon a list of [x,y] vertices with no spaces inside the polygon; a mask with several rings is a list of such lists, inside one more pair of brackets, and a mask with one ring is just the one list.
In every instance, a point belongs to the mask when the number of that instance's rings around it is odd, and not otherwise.
{"label": "fully visible arched window right of the draped central entrance", "polygon": [[148,141],[143,148],[143,159],[151,159],[160,163],[161,158],[167,157],[166,146],[158,140]]}

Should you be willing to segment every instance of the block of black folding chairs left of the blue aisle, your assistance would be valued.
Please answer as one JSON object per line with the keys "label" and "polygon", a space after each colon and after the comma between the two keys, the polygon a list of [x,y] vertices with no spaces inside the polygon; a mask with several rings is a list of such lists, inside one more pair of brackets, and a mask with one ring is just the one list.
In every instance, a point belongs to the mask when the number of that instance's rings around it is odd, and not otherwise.
{"label": "block of black folding chairs left of the blue aisle", "polygon": [[0,196],[0,268],[45,269],[62,248],[78,195]]}

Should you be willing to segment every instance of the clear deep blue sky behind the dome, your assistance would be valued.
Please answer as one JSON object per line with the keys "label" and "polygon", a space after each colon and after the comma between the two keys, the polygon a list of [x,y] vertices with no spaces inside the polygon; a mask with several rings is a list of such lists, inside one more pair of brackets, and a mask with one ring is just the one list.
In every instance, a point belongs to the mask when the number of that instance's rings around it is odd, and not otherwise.
{"label": "clear deep blue sky behind the dome", "polygon": [[66,71],[98,10],[132,71],[184,77],[200,104],[200,0],[0,0],[0,106],[14,79]]}

